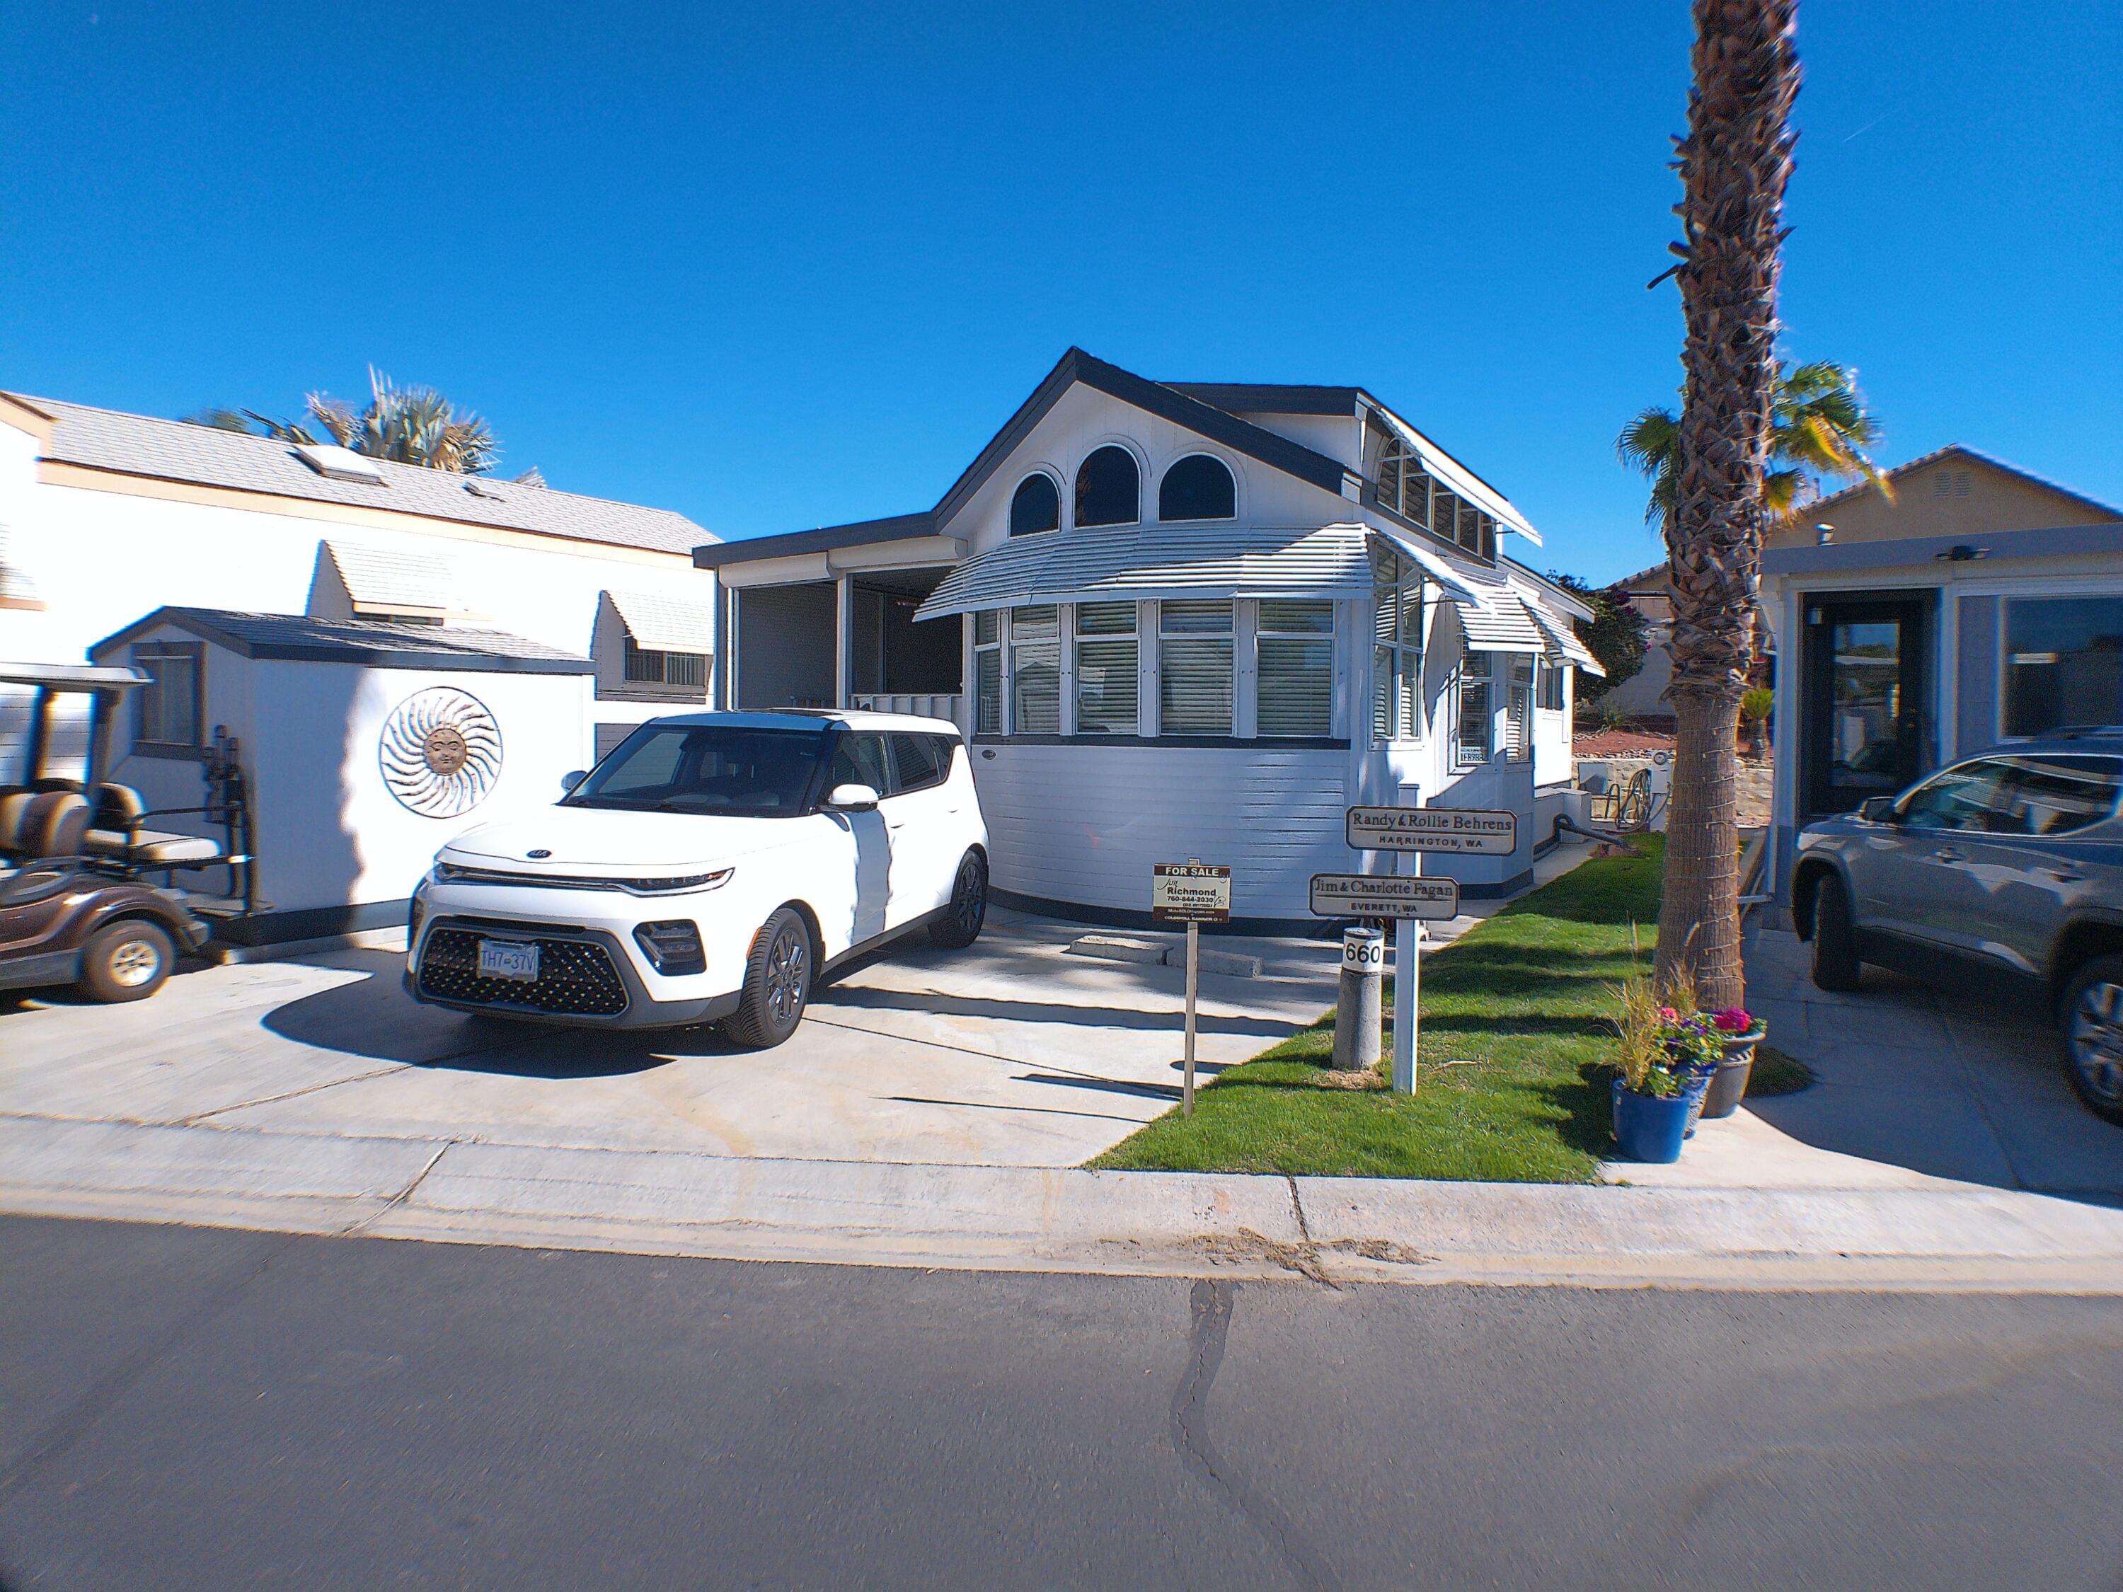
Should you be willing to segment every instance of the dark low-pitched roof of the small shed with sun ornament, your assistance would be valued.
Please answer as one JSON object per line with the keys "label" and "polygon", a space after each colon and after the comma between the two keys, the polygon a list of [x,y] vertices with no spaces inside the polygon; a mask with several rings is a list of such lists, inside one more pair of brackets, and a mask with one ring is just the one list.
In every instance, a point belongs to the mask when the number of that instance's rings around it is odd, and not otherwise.
{"label": "dark low-pitched roof of the small shed with sun ornament", "polygon": [[456,630],[439,624],[382,620],[312,620],[304,613],[244,613],[225,607],[159,607],[117,635],[89,645],[89,656],[123,645],[157,626],[176,626],[240,658],[352,662],[369,669],[467,669],[482,675],[590,675],[597,664],[507,630]]}

